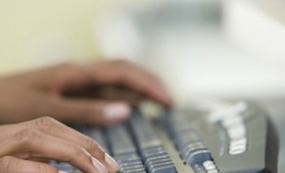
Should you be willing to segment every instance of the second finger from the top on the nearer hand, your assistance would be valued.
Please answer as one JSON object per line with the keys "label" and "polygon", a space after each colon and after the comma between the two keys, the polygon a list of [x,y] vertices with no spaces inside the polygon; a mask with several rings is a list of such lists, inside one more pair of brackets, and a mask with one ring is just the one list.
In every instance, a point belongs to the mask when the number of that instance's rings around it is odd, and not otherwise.
{"label": "second finger from the top on the nearer hand", "polygon": [[[33,128],[25,128],[1,141],[1,151],[17,158],[47,158],[69,162],[85,173],[107,173],[106,168],[83,147],[46,135]],[[1,155],[3,156],[3,155]]]}

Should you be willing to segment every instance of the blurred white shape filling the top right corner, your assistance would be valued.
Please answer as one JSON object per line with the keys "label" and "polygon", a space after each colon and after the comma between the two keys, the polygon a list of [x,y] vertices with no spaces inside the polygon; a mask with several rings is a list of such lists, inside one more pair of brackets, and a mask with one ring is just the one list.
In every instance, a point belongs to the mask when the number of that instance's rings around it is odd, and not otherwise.
{"label": "blurred white shape filling the top right corner", "polygon": [[280,0],[225,0],[225,30],[260,59],[285,63],[284,9]]}

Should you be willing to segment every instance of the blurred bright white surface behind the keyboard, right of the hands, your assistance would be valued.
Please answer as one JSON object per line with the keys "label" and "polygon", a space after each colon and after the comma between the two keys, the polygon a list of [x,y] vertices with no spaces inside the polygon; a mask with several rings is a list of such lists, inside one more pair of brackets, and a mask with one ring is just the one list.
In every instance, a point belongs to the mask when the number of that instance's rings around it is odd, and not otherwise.
{"label": "blurred bright white surface behind the keyboard, right of the hands", "polygon": [[258,61],[217,29],[165,29],[156,35],[153,45],[147,64],[165,78],[179,100],[195,95],[229,98],[285,95],[285,75],[280,67]]}

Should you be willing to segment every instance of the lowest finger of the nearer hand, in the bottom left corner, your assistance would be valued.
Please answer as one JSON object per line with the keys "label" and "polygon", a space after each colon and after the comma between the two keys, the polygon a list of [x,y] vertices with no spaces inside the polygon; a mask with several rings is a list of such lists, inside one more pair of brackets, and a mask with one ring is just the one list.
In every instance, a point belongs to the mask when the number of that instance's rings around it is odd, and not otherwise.
{"label": "lowest finger of the nearer hand, in the bottom left corner", "polygon": [[0,158],[0,172],[3,173],[64,173],[40,162],[22,160],[14,157]]}

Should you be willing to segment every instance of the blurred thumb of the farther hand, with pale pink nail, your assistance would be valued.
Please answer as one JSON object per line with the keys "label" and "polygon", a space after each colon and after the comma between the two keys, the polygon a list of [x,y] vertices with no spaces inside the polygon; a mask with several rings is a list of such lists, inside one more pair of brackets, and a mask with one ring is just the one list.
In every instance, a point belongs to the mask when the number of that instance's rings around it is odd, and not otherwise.
{"label": "blurred thumb of the farther hand, with pale pink nail", "polygon": [[70,123],[112,125],[127,120],[131,108],[124,101],[58,98],[49,108],[50,116]]}

